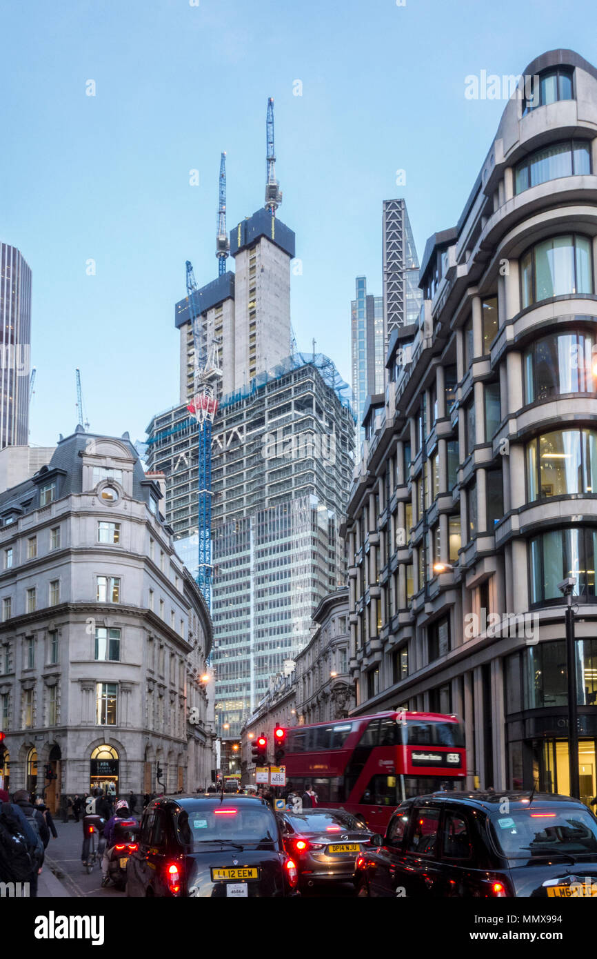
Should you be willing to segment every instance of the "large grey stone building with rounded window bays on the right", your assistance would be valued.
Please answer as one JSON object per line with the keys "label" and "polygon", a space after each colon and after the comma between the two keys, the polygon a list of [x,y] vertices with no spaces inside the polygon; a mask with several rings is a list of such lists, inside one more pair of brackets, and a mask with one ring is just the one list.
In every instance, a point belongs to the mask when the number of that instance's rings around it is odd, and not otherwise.
{"label": "large grey stone building with rounded window bays on the right", "polygon": [[365,412],[345,527],[350,665],[356,713],[464,717],[470,786],[568,793],[559,584],[574,577],[589,802],[597,70],[554,50],[524,76],[526,98],[521,88],[508,100],[459,222],[427,242],[419,321],[394,333],[386,397]]}

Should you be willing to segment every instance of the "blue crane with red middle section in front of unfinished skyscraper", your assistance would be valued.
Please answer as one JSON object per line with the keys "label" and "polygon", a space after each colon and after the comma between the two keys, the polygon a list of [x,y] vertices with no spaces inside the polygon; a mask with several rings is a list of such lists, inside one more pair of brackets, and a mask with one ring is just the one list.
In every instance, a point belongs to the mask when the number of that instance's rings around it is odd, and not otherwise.
{"label": "blue crane with red middle section in front of unfinished skyscraper", "polygon": [[214,380],[221,376],[218,363],[218,342],[208,341],[207,330],[201,322],[197,302],[197,286],[193,265],[187,267],[187,303],[195,344],[194,396],[187,406],[198,425],[198,565],[196,583],[205,598],[208,609],[212,608],[212,427],[218,399]]}

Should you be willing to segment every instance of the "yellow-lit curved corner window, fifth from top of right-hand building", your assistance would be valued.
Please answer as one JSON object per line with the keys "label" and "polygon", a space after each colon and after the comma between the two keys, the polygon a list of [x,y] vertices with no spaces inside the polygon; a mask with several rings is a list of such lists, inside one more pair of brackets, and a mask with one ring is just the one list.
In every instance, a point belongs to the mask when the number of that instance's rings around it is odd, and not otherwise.
{"label": "yellow-lit curved corner window, fifth from top of right-hand building", "polygon": [[556,430],[527,444],[528,501],[597,493],[597,433]]}

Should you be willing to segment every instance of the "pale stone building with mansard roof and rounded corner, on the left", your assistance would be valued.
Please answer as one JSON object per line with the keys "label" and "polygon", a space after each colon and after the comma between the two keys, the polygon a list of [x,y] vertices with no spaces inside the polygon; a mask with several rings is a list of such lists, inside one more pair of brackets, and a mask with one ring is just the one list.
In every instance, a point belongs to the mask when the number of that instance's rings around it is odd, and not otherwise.
{"label": "pale stone building with mansard roof and rounded corner, on the left", "polygon": [[127,433],[80,427],[0,495],[0,779],[11,791],[47,786],[56,807],[95,785],[211,781],[212,624],[160,499]]}

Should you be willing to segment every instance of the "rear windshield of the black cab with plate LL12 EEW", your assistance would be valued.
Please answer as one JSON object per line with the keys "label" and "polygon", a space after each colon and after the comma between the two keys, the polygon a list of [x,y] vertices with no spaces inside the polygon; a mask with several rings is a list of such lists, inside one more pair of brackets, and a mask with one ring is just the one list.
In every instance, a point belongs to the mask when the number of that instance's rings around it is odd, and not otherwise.
{"label": "rear windshield of the black cab with plate LL12 EEW", "polygon": [[278,830],[273,813],[260,806],[185,807],[176,816],[176,835],[185,846],[229,840],[240,845],[273,843]]}

